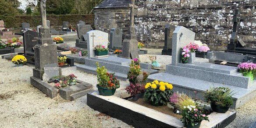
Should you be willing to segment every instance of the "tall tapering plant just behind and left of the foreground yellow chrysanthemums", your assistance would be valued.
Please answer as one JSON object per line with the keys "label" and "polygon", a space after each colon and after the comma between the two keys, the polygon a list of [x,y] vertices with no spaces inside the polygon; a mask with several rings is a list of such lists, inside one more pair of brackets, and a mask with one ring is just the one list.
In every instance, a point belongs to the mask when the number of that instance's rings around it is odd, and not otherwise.
{"label": "tall tapering plant just behind and left of the foreground yellow chrysanthemums", "polygon": [[143,82],[146,82],[149,76],[146,71],[141,70],[139,63],[140,60],[135,58],[130,64],[130,71],[128,72],[127,78],[129,79],[129,82],[133,85],[136,85],[136,83],[143,84]]}

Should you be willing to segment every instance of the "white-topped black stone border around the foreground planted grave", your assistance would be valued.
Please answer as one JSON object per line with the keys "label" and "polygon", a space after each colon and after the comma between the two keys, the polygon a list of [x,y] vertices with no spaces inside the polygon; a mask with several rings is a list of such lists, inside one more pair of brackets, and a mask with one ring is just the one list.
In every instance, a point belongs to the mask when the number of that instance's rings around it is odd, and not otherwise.
{"label": "white-topped black stone border around the foreground planted grave", "polygon": [[[124,98],[124,97],[122,97]],[[100,96],[98,92],[87,94],[87,105],[94,110],[117,118],[133,127],[142,128],[183,128],[184,124],[175,117],[132,103],[117,96]],[[213,112],[210,122],[203,121],[203,128],[224,128],[236,117],[236,112],[225,114]]]}

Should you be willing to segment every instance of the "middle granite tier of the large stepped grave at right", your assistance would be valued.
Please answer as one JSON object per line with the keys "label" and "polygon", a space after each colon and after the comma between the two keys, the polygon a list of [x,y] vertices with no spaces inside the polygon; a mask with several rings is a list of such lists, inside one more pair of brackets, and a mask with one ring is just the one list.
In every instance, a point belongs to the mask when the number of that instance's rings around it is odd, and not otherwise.
{"label": "middle granite tier of the large stepped grave at right", "polygon": [[240,73],[233,73],[230,75],[212,71],[204,71],[196,68],[185,68],[173,65],[166,66],[166,73],[241,88],[249,88],[252,85],[251,79],[249,77],[242,76]]}

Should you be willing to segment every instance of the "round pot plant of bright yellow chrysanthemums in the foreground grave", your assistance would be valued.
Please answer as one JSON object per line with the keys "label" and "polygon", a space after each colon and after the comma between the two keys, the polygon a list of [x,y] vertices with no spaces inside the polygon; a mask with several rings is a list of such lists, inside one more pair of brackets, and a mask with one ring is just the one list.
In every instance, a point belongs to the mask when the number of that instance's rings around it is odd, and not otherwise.
{"label": "round pot plant of bright yellow chrysanthemums in the foreground grave", "polygon": [[169,102],[169,97],[173,95],[173,86],[167,82],[157,80],[145,85],[144,99],[153,106],[163,106]]}

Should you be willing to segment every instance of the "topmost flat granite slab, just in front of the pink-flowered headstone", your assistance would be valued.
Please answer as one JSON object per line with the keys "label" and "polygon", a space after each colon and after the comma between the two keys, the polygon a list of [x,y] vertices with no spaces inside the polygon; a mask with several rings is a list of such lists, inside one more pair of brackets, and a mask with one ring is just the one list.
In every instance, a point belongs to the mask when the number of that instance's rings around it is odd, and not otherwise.
{"label": "topmost flat granite slab, just in front of the pink-flowered headstone", "polygon": [[196,62],[194,64],[178,63],[177,66],[186,67],[186,68],[195,68],[199,70],[212,71],[212,72],[218,72],[218,73],[224,73],[224,74],[233,74],[238,72],[237,67],[220,65],[220,64],[212,64],[212,63],[206,63],[206,62]]}

